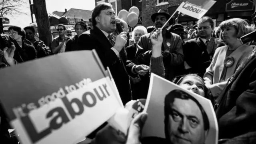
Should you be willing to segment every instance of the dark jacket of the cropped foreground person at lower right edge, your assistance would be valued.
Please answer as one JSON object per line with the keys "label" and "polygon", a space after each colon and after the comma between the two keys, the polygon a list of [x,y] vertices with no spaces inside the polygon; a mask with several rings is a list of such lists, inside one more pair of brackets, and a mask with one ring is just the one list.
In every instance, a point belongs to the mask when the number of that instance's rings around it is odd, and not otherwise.
{"label": "dark jacket of the cropped foreground person at lower right edge", "polygon": [[241,68],[218,99],[219,139],[256,131],[256,58]]}

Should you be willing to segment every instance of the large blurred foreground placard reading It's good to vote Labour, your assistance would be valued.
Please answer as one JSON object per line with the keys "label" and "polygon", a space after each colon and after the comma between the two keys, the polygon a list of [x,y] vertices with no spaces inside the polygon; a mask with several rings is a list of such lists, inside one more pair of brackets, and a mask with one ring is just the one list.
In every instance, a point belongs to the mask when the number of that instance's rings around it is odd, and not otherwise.
{"label": "large blurred foreground placard reading It's good to vote Labour", "polygon": [[75,144],[121,108],[92,51],[0,70],[0,100],[23,144]]}

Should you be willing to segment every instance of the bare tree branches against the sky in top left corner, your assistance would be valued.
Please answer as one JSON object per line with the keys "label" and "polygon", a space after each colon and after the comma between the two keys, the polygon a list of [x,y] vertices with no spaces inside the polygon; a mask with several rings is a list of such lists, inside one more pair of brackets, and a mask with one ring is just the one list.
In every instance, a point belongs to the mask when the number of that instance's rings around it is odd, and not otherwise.
{"label": "bare tree branches against the sky in top left corner", "polygon": [[0,0],[0,16],[25,14],[19,9],[24,4],[24,0]]}

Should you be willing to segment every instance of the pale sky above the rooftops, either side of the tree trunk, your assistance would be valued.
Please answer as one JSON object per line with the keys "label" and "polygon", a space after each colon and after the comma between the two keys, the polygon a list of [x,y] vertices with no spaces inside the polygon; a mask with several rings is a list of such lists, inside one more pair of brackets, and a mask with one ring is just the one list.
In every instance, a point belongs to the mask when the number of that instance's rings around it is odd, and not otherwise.
{"label": "pale sky above the rooftops, either side of the tree trunk", "polygon": [[[20,11],[24,14],[16,14],[14,17],[5,16],[10,19],[10,24],[20,26],[24,28],[29,26],[32,22],[30,15],[30,8],[28,0],[26,4],[19,7]],[[33,2],[33,0],[31,0]],[[52,13],[55,10],[58,12],[64,12],[65,8],[69,10],[70,8],[77,8],[82,10],[92,10],[95,7],[95,0],[46,0],[46,9],[48,13]],[[34,17],[34,21],[36,18]]]}

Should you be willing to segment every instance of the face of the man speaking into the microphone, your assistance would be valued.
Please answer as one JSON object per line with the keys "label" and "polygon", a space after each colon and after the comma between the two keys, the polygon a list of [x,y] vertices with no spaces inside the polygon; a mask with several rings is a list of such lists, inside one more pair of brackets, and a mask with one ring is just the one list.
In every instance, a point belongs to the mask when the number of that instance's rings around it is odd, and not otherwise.
{"label": "face of the man speaking into the microphone", "polygon": [[99,16],[96,17],[99,28],[105,32],[112,33],[116,30],[116,16],[114,9],[102,10]]}

